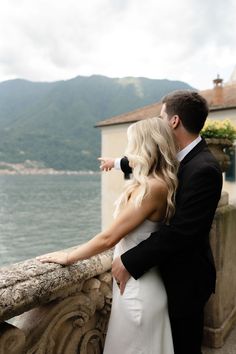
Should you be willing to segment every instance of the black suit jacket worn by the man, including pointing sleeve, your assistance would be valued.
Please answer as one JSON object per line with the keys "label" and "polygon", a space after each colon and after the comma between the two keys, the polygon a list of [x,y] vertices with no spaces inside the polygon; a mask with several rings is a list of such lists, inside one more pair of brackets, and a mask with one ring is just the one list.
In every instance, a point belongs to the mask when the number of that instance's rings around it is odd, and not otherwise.
{"label": "black suit jacket worn by the man, including pointing sleeve", "polygon": [[[121,160],[121,168],[125,173],[131,172],[126,158]],[[221,195],[222,172],[205,140],[182,160],[178,178],[176,212],[170,224],[163,224],[121,256],[135,279],[158,266],[173,318],[202,309],[215,289],[209,231]]]}

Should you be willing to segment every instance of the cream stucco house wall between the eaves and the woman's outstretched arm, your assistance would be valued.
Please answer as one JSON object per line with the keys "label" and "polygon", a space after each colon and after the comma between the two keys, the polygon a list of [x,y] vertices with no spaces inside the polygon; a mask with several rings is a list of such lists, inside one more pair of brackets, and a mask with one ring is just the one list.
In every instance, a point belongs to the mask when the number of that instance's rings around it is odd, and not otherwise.
{"label": "cream stucco house wall between the eaves and the woman's outstretched arm", "polygon": [[[128,126],[129,124],[120,124],[102,128],[101,156],[124,156]],[[121,171],[112,170],[102,173],[102,229],[113,220],[114,202],[120,195],[124,182],[124,175]]]}

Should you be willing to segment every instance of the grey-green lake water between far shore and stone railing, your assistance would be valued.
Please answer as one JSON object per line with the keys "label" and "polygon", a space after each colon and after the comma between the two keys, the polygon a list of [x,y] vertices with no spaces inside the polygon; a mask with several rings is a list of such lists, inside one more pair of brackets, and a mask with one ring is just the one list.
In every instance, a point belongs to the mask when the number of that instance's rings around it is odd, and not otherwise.
{"label": "grey-green lake water between far shore and stone railing", "polygon": [[75,246],[99,232],[100,178],[0,175],[0,266]]}

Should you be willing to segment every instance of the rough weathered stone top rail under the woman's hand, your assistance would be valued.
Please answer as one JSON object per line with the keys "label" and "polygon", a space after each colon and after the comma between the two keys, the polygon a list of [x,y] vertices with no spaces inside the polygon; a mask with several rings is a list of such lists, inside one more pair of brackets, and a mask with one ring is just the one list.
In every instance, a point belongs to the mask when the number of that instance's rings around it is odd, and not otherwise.
{"label": "rough weathered stone top rail under the woman's hand", "polygon": [[0,321],[80,291],[85,280],[111,268],[112,251],[71,266],[29,259],[0,268]]}

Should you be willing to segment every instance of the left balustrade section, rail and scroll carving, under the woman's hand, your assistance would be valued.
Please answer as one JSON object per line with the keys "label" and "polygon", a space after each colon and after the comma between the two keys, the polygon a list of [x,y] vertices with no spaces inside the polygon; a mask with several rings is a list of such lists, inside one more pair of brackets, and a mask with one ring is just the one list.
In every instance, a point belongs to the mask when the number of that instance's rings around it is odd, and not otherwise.
{"label": "left balustrade section, rail and scroll carving, under the woman's hand", "polygon": [[0,268],[0,354],[102,353],[111,262],[108,251],[68,267],[31,259]]}

